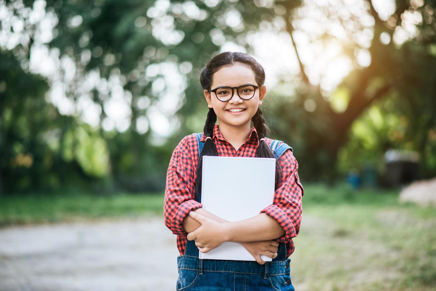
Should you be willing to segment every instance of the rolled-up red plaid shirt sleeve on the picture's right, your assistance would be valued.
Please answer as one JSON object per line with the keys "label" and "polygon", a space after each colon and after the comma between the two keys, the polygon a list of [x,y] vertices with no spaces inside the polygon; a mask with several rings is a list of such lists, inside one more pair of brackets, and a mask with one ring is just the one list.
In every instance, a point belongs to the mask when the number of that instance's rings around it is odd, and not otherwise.
{"label": "rolled-up red plaid shirt sleeve on the picture's right", "polygon": [[282,181],[274,193],[271,205],[262,209],[268,216],[276,219],[283,227],[285,235],[275,239],[277,242],[290,243],[300,231],[303,186],[300,183],[297,169],[298,163],[290,149],[286,150],[279,158],[282,166]]}

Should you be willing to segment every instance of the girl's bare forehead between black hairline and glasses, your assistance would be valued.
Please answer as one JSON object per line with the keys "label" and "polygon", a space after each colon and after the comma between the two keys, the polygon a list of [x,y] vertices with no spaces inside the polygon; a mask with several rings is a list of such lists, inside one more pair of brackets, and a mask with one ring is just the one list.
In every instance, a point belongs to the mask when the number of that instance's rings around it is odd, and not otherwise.
{"label": "girl's bare forehead between black hairline and glasses", "polygon": [[243,84],[256,85],[254,72],[251,68],[240,63],[225,65],[212,76],[212,88],[221,86],[240,86]]}

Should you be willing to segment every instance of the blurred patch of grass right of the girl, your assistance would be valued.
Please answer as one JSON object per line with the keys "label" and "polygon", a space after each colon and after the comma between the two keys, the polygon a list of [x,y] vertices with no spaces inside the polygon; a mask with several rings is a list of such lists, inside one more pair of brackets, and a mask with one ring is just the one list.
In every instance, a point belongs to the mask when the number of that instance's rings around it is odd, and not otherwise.
{"label": "blurred patch of grass right of the girl", "polygon": [[399,190],[308,185],[291,256],[302,290],[435,290],[436,209]]}

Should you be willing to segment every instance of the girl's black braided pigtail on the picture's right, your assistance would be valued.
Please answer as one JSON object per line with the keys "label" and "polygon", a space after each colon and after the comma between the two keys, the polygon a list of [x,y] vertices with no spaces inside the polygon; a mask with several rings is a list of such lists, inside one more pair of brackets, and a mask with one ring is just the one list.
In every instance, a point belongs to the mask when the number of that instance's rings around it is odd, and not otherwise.
{"label": "girl's black braided pigtail on the picture's right", "polygon": [[[253,126],[255,127],[257,131],[257,135],[259,137],[259,140],[264,138],[267,134],[269,134],[269,127],[265,123],[265,119],[262,116],[262,110],[260,107],[257,108],[256,113],[252,117]],[[255,157],[274,157],[274,153],[269,148],[268,144],[266,144],[265,140],[259,141],[259,147],[257,147]],[[276,185],[275,190],[279,188],[280,182],[281,182],[281,167],[279,164],[279,161],[276,160]]]}

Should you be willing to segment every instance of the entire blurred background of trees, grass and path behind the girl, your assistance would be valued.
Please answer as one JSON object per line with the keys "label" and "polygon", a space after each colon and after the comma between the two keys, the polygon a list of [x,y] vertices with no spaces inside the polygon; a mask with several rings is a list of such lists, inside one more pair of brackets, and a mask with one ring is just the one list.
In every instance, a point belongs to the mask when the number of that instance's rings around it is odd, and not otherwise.
{"label": "entire blurred background of trees, grass and path behind the girl", "polygon": [[435,9],[0,0],[0,290],[174,290],[166,172],[221,51],[263,65],[299,163],[296,289],[434,290]]}

